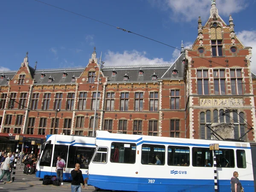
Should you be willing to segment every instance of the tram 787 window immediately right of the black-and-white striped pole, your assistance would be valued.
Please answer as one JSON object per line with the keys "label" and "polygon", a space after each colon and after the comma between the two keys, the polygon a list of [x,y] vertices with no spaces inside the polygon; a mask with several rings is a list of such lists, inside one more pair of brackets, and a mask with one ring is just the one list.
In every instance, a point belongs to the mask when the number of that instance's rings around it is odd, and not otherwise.
{"label": "tram 787 window immediately right of the black-and-white striped pole", "polygon": [[217,167],[235,167],[233,149],[220,149],[215,151]]}

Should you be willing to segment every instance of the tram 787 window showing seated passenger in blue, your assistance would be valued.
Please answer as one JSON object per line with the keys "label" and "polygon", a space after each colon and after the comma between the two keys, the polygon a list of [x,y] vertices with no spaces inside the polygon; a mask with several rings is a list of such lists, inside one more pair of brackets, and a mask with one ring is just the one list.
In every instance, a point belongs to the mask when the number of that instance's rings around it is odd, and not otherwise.
{"label": "tram 787 window showing seated passenger in blue", "polygon": [[[159,161],[157,160],[157,158]],[[141,164],[164,165],[165,164],[165,146],[143,144],[141,152]]]}

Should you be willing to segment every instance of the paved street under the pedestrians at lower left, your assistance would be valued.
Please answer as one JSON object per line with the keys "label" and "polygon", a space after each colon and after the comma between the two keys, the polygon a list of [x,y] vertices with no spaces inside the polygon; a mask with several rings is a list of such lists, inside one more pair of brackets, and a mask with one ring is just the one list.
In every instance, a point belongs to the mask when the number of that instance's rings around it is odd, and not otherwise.
{"label": "paved street under the pedestrians at lower left", "polygon": [[[71,192],[70,185],[71,183],[64,183],[63,186],[53,186],[53,185],[42,185],[43,181],[33,175],[23,174],[23,167],[19,169],[20,166],[17,163],[17,169],[15,174],[15,181],[13,183],[0,183],[0,192],[17,192],[17,191],[26,191],[26,192],[46,192],[46,191],[55,191],[55,192]],[[3,178],[6,181],[6,176]],[[12,180],[12,174],[11,174]],[[95,189],[93,186],[85,186],[82,191],[84,192],[93,192]]]}

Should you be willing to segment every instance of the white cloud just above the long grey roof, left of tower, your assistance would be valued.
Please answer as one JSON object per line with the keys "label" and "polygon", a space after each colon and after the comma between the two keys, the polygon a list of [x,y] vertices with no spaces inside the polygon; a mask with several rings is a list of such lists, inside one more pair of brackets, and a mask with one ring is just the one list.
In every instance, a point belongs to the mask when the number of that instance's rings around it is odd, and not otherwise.
{"label": "white cloud just above the long grey roof, left of tower", "polygon": [[150,64],[171,64],[171,61],[164,61],[163,58],[148,58],[146,52],[138,52],[137,50],[124,51],[123,53],[112,52],[104,56],[106,65],[150,65]]}

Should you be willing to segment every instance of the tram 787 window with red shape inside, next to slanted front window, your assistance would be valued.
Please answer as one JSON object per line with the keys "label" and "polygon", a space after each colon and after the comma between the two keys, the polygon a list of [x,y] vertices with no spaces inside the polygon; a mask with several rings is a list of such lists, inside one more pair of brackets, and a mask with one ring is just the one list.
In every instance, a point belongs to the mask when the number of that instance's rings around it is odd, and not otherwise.
{"label": "tram 787 window with red shape inside, next to slanted front window", "polygon": [[111,143],[112,163],[135,163],[136,144],[135,143]]}

